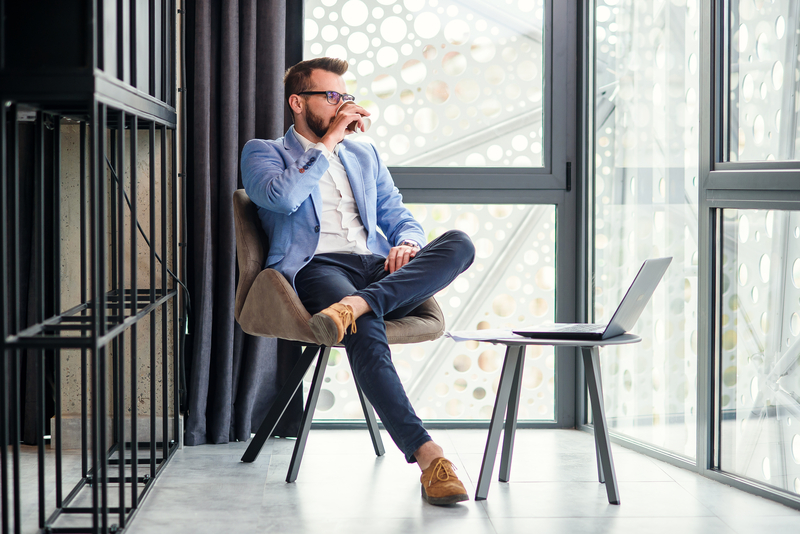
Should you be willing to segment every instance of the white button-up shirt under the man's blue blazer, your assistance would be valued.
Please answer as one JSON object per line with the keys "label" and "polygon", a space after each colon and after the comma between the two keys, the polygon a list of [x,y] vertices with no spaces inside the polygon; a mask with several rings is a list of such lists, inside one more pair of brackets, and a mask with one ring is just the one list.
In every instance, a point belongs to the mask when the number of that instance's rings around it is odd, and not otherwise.
{"label": "white button-up shirt under the man's blue blazer", "polygon": [[319,180],[322,217],[319,224],[319,243],[314,255],[331,252],[372,254],[367,248],[367,231],[358,214],[347,171],[339,159],[339,145],[331,152],[323,143],[312,143],[297,131],[294,134],[303,150],[316,148],[322,151],[329,163],[328,170]]}

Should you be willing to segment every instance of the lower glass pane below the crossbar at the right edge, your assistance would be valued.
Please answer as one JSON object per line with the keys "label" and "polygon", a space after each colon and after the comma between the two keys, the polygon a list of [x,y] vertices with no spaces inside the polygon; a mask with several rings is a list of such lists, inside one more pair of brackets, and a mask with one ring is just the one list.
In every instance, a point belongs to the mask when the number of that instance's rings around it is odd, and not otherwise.
{"label": "lower glass pane below the crossbar at the right edge", "polygon": [[720,467],[800,493],[800,212],[725,210]]}

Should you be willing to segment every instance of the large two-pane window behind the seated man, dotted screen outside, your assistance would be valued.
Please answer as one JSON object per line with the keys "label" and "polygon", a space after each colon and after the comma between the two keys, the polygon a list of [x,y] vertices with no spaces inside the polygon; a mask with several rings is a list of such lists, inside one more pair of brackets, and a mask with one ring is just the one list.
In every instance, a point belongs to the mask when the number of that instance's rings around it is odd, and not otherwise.
{"label": "large two-pane window behind the seated man, dotted screen outside", "polygon": [[[546,0],[307,0],[305,13],[305,57],[346,59],[348,92],[372,114],[370,130],[351,139],[377,147],[429,240],[458,228],[476,245],[473,266],[436,296],[447,328],[574,313],[556,287],[556,265],[569,265],[564,276],[574,284],[574,247],[557,244],[559,231],[575,228],[563,204],[564,101],[574,88],[550,94],[548,47],[554,21],[568,27],[575,17]],[[330,360],[317,420],[362,417],[343,356]],[[440,339],[394,346],[392,356],[423,419],[489,419],[501,348]],[[560,393],[570,398],[557,403],[555,352],[531,347],[527,358],[520,419],[552,425],[557,404],[564,412],[574,404],[572,364]]]}

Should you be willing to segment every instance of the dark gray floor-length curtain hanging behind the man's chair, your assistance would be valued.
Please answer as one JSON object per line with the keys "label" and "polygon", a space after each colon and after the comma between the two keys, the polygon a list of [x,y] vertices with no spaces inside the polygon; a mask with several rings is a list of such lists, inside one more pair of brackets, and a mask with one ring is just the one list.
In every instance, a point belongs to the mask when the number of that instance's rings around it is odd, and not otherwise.
{"label": "dark gray floor-length curtain hanging behind the man's chair", "polygon": [[[253,138],[285,132],[283,73],[302,59],[302,0],[198,0],[187,13],[187,235],[193,317],[186,443],[247,440],[298,348],[244,334],[233,318],[233,192]],[[300,392],[301,393],[301,392]],[[276,434],[296,436],[300,393]]]}

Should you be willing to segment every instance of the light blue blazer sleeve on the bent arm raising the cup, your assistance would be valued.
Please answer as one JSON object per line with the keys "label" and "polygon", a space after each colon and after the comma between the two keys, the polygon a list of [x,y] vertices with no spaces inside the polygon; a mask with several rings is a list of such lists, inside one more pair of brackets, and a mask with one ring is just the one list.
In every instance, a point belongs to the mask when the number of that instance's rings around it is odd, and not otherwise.
{"label": "light blue blazer sleeve on the bent arm raising the cup", "polygon": [[242,149],[242,183],[257,206],[291,215],[317,187],[329,163],[316,148],[309,148],[293,162],[281,157],[282,150],[262,139],[248,141]]}

